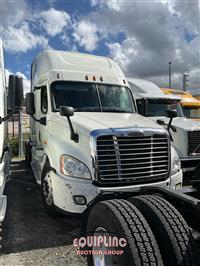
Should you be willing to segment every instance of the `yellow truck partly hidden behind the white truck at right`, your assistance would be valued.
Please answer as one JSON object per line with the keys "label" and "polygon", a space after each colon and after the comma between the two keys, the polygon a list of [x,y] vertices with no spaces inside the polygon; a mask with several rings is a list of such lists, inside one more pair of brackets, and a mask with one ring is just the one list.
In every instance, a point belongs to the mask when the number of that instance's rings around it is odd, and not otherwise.
{"label": "yellow truck partly hidden behind the white truck at right", "polygon": [[162,90],[165,94],[174,94],[181,97],[181,105],[185,117],[200,120],[200,101],[194,98],[189,92],[164,88]]}

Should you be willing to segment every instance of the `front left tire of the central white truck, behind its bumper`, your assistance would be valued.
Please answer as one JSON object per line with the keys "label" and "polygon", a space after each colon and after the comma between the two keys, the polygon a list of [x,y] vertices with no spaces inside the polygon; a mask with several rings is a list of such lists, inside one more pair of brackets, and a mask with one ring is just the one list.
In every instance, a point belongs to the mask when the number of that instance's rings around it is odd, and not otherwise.
{"label": "front left tire of the central white truck, behind its bumper", "polygon": [[50,174],[50,166],[47,164],[44,166],[44,170],[42,173],[42,180],[41,180],[41,195],[42,195],[42,202],[44,205],[44,208],[46,209],[47,213],[49,214],[49,216],[51,216],[52,218],[57,218],[60,216],[60,214],[58,213],[58,211],[56,210],[56,207],[54,205],[53,202],[53,195],[52,195],[52,200],[51,201],[47,201],[46,195],[45,195],[45,190],[48,189],[46,184],[46,176],[48,174]]}

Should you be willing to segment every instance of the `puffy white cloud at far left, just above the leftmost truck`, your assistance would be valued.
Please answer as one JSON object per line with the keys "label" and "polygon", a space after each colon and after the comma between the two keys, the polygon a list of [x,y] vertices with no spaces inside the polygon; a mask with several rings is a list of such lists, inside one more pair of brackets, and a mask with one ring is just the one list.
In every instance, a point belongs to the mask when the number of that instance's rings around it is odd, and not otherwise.
{"label": "puffy white cloud at far left, just above the leftmost truck", "polygon": [[33,34],[29,24],[23,22],[20,27],[8,26],[3,31],[3,45],[11,53],[27,52],[37,46],[47,47],[48,40],[42,35]]}

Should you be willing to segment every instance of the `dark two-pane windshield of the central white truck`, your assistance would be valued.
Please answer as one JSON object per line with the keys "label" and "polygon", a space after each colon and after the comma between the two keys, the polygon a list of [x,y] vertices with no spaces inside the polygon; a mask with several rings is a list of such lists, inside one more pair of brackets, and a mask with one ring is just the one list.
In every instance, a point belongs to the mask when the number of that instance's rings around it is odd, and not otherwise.
{"label": "dark two-pane windshield of the central white truck", "polygon": [[53,105],[72,106],[77,112],[135,112],[129,88],[81,82],[56,82],[51,86]]}

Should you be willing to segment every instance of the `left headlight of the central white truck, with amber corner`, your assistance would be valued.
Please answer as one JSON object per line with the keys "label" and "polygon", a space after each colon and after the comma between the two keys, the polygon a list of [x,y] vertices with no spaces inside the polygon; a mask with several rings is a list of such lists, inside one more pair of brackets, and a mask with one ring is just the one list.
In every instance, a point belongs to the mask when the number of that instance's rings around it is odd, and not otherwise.
{"label": "left headlight of the central white truck, with amber corner", "polygon": [[66,176],[91,179],[90,171],[87,166],[69,155],[61,155],[60,171]]}

